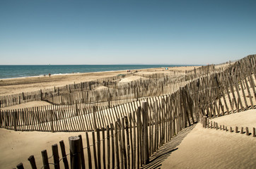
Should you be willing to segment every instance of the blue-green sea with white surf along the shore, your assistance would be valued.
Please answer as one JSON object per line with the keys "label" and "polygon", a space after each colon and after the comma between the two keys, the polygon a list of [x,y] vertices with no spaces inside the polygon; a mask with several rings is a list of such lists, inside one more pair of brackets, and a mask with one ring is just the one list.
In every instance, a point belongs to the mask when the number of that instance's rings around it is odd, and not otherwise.
{"label": "blue-green sea with white surf along the shore", "polygon": [[112,70],[136,70],[144,68],[165,68],[180,65],[0,65],[0,79],[15,77],[31,77],[69,74],[91,73]]}

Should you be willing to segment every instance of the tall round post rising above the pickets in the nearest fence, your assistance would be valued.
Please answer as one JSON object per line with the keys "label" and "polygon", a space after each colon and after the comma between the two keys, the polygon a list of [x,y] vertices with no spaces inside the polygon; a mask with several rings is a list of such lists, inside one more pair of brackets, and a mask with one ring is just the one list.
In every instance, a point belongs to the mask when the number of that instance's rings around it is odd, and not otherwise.
{"label": "tall round post rising above the pickets in the nearest fence", "polygon": [[148,102],[142,101],[142,117],[144,130],[144,163],[149,163],[149,135],[148,135]]}

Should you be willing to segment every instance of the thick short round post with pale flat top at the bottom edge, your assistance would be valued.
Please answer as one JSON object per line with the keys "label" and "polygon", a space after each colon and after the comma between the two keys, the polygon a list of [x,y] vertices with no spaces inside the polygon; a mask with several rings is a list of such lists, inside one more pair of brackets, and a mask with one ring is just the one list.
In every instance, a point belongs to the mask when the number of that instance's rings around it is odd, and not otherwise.
{"label": "thick short round post with pale flat top at the bottom edge", "polygon": [[69,137],[69,149],[70,149],[70,163],[71,169],[81,168],[81,145],[80,137],[71,136]]}

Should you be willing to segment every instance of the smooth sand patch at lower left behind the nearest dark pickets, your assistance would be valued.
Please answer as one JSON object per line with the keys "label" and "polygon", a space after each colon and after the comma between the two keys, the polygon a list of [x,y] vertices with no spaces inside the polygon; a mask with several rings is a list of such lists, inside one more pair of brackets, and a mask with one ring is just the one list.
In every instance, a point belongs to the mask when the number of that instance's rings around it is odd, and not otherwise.
{"label": "smooth sand patch at lower left behind the nearest dark pickets", "polygon": [[[69,137],[81,134],[83,145],[86,145],[85,132],[14,132],[12,130],[0,129],[0,168],[15,168],[23,163],[24,168],[31,168],[28,157],[35,156],[37,168],[42,167],[42,150],[47,150],[48,158],[52,156],[52,145],[64,140],[66,154],[69,154]],[[92,142],[91,133],[88,134]],[[59,148],[59,156],[61,150]],[[69,160],[69,158],[68,158]],[[52,158],[49,160],[53,163]],[[60,163],[64,168],[63,162]],[[53,168],[53,165],[50,166]]]}

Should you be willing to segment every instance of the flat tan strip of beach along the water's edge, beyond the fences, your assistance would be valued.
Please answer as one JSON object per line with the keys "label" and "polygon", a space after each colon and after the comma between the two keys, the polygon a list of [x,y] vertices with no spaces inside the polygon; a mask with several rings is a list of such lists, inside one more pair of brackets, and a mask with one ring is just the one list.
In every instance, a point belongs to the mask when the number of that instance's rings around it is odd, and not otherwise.
{"label": "flat tan strip of beach along the water's edge, beyond the fences", "polygon": [[[153,73],[170,73],[173,70],[180,70],[185,72],[185,70],[192,70],[199,68],[199,66],[182,66],[173,67],[169,70],[164,70],[164,68],[149,68],[141,70],[131,70],[131,73],[138,71],[141,75],[153,74]],[[67,75],[52,75],[40,76],[40,77],[19,77],[12,79],[0,79],[0,96],[5,96],[9,94],[18,94],[22,92],[34,92],[40,89],[49,89],[53,87],[62,87],[66,84],[74,84],[80,82],[88,82],[91,80],[97,80],[104,77],[112,77],[119,74],[127,74],[126,70],[120,71],[109,71],[109,72],[97,72],[97,73],[73,73]]]}

